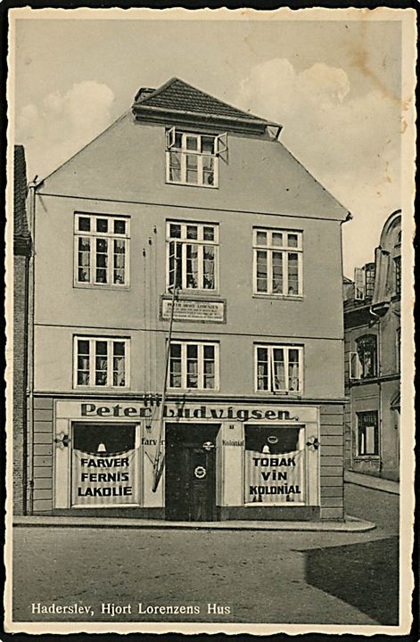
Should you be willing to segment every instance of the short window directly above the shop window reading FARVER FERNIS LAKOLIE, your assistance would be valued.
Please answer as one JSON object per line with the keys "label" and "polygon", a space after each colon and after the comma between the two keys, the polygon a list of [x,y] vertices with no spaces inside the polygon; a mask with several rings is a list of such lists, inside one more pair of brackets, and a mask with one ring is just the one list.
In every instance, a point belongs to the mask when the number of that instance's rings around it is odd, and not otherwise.
{"label": "short window directly above the shop window reading FARVER FERNIS LAKOLIE", "polygon": [[128,387],[128,339],[75,337],[75,386]]}

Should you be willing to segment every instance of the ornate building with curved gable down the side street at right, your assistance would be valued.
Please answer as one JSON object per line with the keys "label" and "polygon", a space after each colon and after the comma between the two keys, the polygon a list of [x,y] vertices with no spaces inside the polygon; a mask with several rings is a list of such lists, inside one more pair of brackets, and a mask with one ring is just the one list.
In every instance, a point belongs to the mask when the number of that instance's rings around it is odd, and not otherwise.
{"label": "ornate building with curved gable down the side street at right", "polygon": [[401,210],[383,226],[375,261],[344,283],[345,465],[399,480]]}

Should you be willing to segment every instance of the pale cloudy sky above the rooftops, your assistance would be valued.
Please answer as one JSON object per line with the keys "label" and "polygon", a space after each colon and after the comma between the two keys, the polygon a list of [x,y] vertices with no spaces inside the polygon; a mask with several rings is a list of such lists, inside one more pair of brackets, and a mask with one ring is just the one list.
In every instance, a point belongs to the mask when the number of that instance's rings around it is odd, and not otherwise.
{"label": "pale cloudy sky above the rooftops", "polygon": [[14,143],[25,146],[29,180],[128,111],[139,87],[177,76],[281,124],[281,141],[352,214],[344,274],[374,258],[401,207],[399,21],[346,20],[342,10],[334,20],[55,11],[15,21]]}

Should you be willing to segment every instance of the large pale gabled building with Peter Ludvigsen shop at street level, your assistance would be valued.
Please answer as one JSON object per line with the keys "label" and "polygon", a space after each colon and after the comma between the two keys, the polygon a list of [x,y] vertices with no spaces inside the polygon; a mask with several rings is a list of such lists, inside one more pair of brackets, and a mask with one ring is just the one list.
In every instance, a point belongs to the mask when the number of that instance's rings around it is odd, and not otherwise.
{"label": "large pale gabled building with Peter Ludvigsen shop at street level", "polygon": [[342,222],[178,78],[37,185],[35,514],[343,518]]}

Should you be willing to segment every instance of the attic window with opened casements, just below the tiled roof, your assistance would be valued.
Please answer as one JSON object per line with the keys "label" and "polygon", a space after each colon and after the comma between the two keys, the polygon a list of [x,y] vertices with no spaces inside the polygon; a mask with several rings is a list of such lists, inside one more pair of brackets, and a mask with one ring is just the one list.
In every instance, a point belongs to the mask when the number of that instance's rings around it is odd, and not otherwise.
{"label": "attic window with opened casements, just below the tiled roof", "polygon": [[227,135],[166,132],[166,180],[178,185],[218,187],[218,157],[226,152]]}

